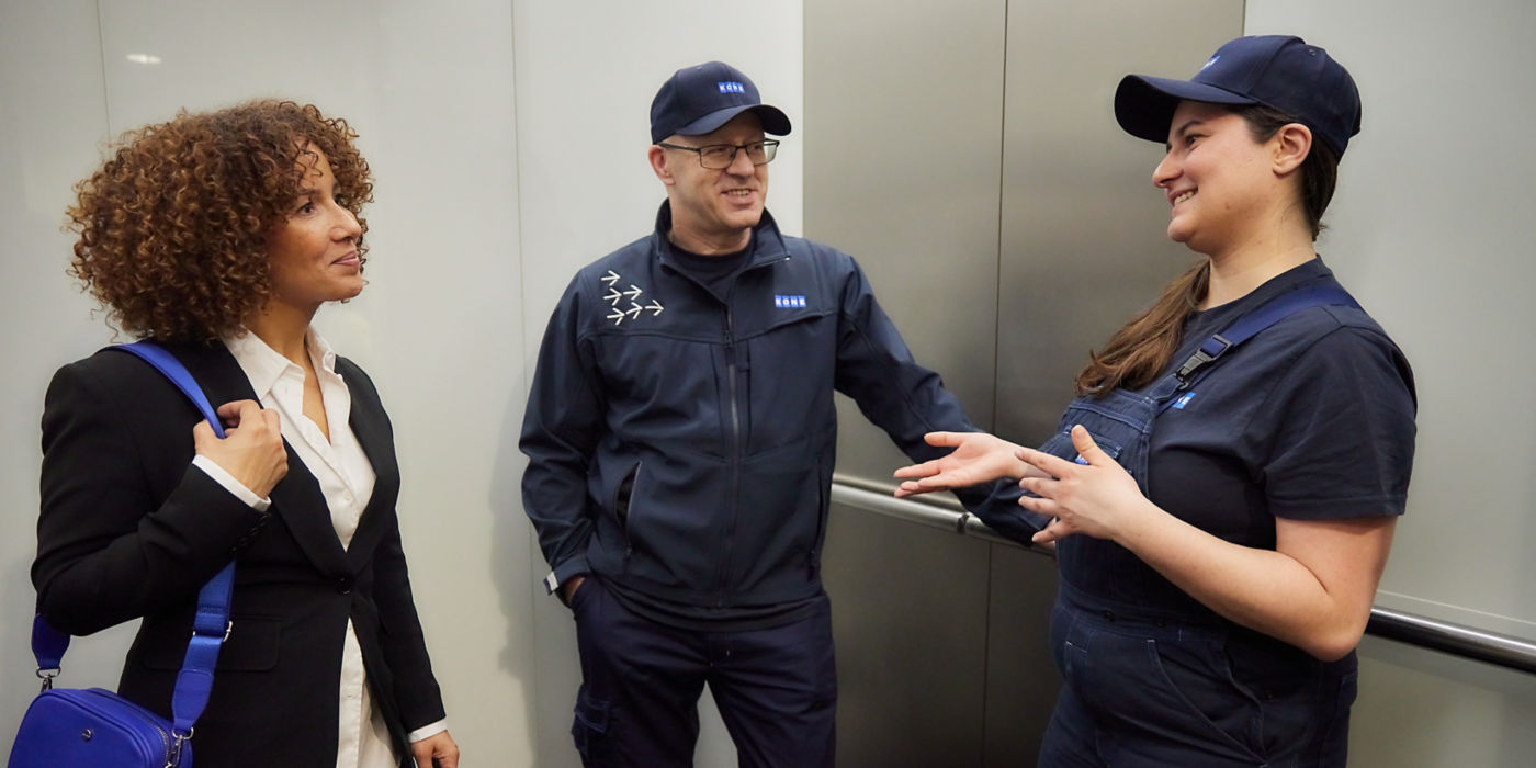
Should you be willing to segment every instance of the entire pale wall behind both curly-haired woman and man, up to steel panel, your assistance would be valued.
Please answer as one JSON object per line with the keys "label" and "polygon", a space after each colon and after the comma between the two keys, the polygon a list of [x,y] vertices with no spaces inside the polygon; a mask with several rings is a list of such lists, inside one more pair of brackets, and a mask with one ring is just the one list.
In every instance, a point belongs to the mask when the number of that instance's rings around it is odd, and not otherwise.
{"label": "entire pale wall behind both curly-haired woman and man, up to steel panel", "polygon": [[[65,275],[71,184],[124,129],[283,95],[347,118],[376,175],[369,287],[316,326],[379,384],[401,527],[467,765],[576,765],[568,613],[535,579],[518,429],[574,269],[651,226],[647,114],[725,58],[800,121],[800,3],[5,0],[0,5],[0,742],[29,691],[38,415],[52,372],[112,341]],[[151,54],[155,65],[127,54]],[[625,138],[630,137],[630,138]],[[771,207],[800,226],[794,140]],[[527,253],[527,258],[524,257]],[[115,687],[134,627],[78,639],[65,685]],[[710,720],[700,765],[730,762]]]}

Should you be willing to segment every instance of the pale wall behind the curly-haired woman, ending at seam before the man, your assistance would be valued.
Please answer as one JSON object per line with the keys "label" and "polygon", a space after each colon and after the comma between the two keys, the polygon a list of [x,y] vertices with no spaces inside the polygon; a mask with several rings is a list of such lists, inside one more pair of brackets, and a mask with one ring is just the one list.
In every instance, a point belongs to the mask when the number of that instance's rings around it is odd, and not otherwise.
{"label": "pale wall behind the curly-haired woman, ending at seam before the man", "polygon": [[[71,184],[124,129],[281,95],[347,118],[376,174],[369,287],[316,326],[379,382],[395,422],[401,528],[452,731],[470,754],[531,762],[531,605],[515,565],[528,542],[521,530],[490,535],[498,511],[518,510],[495,461],[502,415],[522,402],[522,336],[478,332],[521,321],[510,5],[68,0],[3,14],[0,312],[12,407],[0,432],[0,731],[12,733],[32,679],[26,565],[41,392],[58,364],[112,341],[65,275]],[[115,687],[131,630],[77,641],[65,684]]]}

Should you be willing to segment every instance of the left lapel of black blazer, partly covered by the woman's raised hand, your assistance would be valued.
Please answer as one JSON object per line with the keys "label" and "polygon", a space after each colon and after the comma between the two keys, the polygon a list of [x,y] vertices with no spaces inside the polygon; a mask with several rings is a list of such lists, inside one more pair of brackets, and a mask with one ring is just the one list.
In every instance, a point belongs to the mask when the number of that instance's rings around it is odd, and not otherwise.
{"label": "left lapel of black blazer, partly covered by the woman's raised hand", "polygon": [[[164,347],[187,367],[215,409],[235,399],[257,399],[250,379],[224,344],[164,344]],[[304,550],[304,556],[323,573],[346,571],[347,554],[341,548],[341,539],[336,538],[336,528],[330,524],[330,507],[319,492],[319,481],[298,459],[287,439],[283,441],[283,450],[289,455],[289,472],[267,496],[272,499],[270,511],[283,518]]]}

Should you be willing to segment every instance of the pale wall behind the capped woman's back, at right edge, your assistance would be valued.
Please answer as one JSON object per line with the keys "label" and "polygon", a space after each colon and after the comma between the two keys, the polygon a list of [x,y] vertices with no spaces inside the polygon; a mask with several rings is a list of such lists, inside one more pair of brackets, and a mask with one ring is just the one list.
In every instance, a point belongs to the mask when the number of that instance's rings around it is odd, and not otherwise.
{"label": "pale wall behind the capped woman's back, at right edge", "polygon": [[[1379,605],[1536,637],[1536,5],[1249,0],[1249,34],[1335,54],[1364,103],[1318,249],[1418,379],[1409,513]],[[1361,647],[1353,765],[1530,765],[1536,676]]]}

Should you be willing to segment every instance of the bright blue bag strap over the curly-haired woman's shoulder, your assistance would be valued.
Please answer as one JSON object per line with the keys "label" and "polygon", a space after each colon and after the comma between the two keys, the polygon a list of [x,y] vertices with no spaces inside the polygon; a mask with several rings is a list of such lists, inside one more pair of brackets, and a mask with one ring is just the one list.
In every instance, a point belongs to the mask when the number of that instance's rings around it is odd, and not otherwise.
{"label": "bright blue bag strap over the curly-haired woman's shoulder", "polygon": [[[224,436],[224,427],[218,422],[218,415],[207,402],[207,396],[203,395],[203,389],[164,347],[151,341],[138,341],[108,349],[129,352],[158,369],[198,407],[203,418],[214,427],[214,433],[220,438]],[[198,591],[197,614],[192,619],[192,641],[187,644],[187,653],[181,660],[181,673],[177,674],[177,687],[170,699],[172,723],[181,739],[192,736],[192,725],[203,714],[207,696],[214,690],[214,667],[218,664],[218,650],[229,637],[230,630],[229,598],[233,587],[235,564],[230,561]],[[37,656],[38,676],[43,677],[45,690],[52,682],[52,674],[45,673],[58,673],[58,664],[68,648],[68,633],[52,628],[41,614],[32,621],[32,654]]]}

